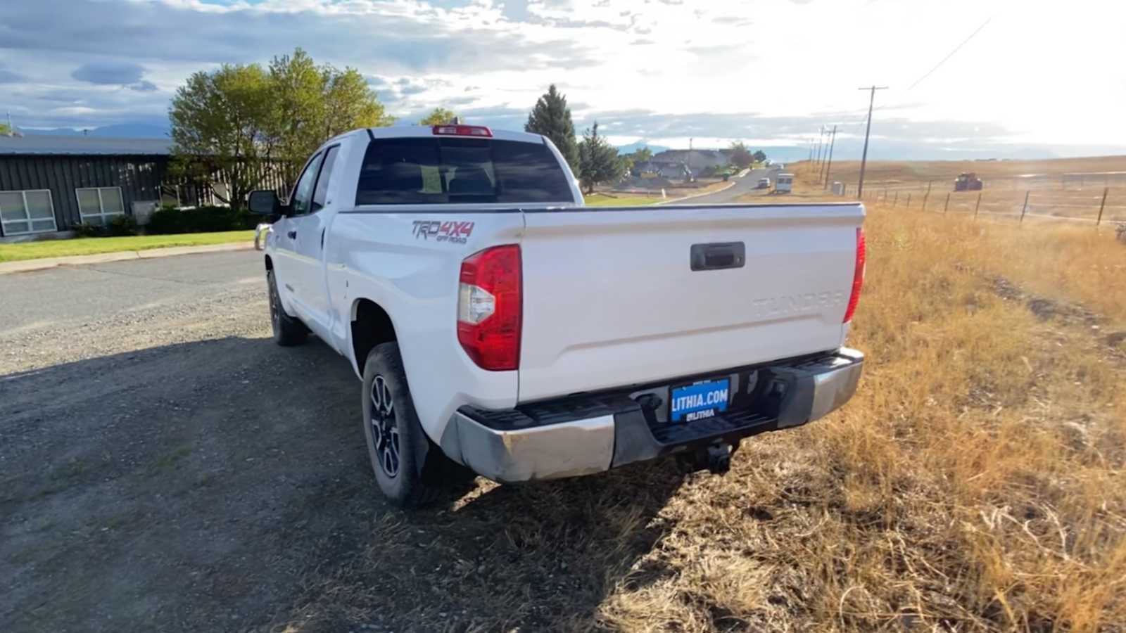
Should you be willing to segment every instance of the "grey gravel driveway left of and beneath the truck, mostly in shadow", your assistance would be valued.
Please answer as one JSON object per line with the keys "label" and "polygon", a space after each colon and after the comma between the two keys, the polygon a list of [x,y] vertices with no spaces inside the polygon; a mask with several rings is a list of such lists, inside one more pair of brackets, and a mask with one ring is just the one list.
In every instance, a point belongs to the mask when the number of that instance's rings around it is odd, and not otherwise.
{"label": "grey gravel driveway left of and beneath the truck, mostly in shadow", "polygon": [[674,467],[390,509],[355,375],[272,345],[258,267],[0,276],[0,631],[593,626]]}

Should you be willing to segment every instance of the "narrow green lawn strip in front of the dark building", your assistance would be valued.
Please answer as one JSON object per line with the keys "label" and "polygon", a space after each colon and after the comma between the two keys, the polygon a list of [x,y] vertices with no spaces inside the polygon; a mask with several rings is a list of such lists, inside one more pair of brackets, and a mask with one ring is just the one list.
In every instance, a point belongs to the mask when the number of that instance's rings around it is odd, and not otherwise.
{"label": "narrow green lawn strip in front of the dark building", "polygon": [[19,244],[0,244],[0,261],[39,259],[43,257],[66,257],[71,255],[95,255],[125,250],[146,250],[163,247],[198,247],[249,242],[254,239],[253,230],[223,231],[220,233],[184,233],[179,235],[133,235],[127,238],[78,238],[73,240],[44,240]]}

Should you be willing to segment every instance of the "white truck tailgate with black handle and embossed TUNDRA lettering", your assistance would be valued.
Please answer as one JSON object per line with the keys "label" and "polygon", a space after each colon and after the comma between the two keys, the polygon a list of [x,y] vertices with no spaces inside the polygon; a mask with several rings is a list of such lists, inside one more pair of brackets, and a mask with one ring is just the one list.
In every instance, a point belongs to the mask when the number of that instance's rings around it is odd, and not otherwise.
{"label": "white truck tailgate with black handle and embossed TUNDRA lettering", "polygon": [[864,214],[859,203],[525,212],[519,400],[835,349]]}

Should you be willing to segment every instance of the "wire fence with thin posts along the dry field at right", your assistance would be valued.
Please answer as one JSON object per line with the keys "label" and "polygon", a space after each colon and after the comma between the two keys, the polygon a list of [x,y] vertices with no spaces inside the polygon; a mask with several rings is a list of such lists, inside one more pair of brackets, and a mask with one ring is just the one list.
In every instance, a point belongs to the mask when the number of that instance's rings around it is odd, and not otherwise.
{"label": "wire fence with thin posts along the dry field at right", "polygon": [[[941,189],[935,188],[933,182],[923,182],[921,187],[914,184],[879,187],[865,182],[863,198],[884,203],[893,208],[1012,220],[1018,223],[1055,220],[1099,226],[1126,222],[1126,175],[1118,186],[1092,187],[1080,186],[1078,182],[1062,186],[1060,178],[1054,180],[1055,187],[1026,186],[1007,189],[986,186],[976,191],[951,191],[947,181],[941,182]],[[843,195],[850,195],[848,187]],[[855,187],[851,195],[856,195]]]}

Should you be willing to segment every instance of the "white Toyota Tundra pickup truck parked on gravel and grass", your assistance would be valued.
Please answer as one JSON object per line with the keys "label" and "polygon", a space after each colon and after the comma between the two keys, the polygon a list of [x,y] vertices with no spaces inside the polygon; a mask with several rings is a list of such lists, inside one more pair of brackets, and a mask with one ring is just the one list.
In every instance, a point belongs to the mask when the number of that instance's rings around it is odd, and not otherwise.
{"label": "white Toyota Tundra pickup truck parked on gravel and grass", "polygon": [[858,203],[588,208],[547,139],[454,124],[337,136],[287,200],[249,205],[272,220],[275,340],[312,331],[351,362],[400,506],[468,471],[723,472],[860,377]]}

